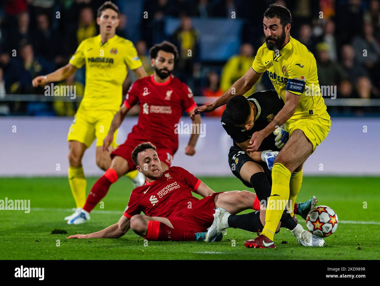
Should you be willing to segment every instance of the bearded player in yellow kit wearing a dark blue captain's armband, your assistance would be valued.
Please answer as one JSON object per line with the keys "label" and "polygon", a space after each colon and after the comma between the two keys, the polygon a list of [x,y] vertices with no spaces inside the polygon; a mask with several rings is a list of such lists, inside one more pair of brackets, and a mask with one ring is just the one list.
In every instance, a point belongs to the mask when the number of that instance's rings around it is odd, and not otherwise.
{"label": "bearded player in yellow kit wearing a dark blue captain's armband", "polygon": [[[192,114],[211,112],[234,95],[244,94],[265,71],[285,103],[267,127],[253,133],[248,147],[248,152],[257,151],[263,139],[274,130],[282,133],[284,139],[287,133],[289,135],[274,160],[264,228],[258,237],[245,242],[248,248],[275,248],[276,226],[292,211],[287,211],[284,202],[295,200],[302,184],[302,164],[326,138],[331,125],[320,94],[315,58],[306,46],[290,36],[290,24],[291,14],[287,8],[278,4],[269,6],[263,19],[266,43],[258,49],[252,68],[214,103],[199,106]],[[280,128],[284,123],[285,130]],[[247,124],[253,125],[254,119]],[[323,246],[325,243],[300,224],[291,231],[301,245]]]}

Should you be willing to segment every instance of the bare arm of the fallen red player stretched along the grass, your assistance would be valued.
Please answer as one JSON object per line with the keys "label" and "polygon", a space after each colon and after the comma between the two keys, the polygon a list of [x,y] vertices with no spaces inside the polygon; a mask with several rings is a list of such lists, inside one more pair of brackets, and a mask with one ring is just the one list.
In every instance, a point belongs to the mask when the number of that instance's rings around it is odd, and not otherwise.
{"label": "bare arm of the fallen red player stretched along the grass", "polygon": [[130,228],[131,220],[125,216],[122,216],[116,224],[106,227],[98,232],[92,234],[76,234],[70,235],[67,238],[119,238],[125,235]]}

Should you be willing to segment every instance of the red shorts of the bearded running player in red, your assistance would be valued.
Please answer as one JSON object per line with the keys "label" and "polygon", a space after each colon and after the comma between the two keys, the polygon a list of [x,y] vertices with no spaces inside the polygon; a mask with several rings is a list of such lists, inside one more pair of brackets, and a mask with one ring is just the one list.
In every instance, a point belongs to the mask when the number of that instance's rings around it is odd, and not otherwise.
{"label": "red shorts of the bearded running player in red", "polygon": [[[136,148],[137,145],[140,143],[146,142],[147,140],[140,141],[140,140],[131,140],[127,139],[122,145],[119,145],[114,151],[111,153],[111,159],[113,159],[115,156],[120,156],[127,160],[128,162],[128,168],[129,172],[136,169],[136,165],[132,160],[132,151]],[[173,160],[173,149],[163,147],[160,145],[156,145],[152,142],[153,145],[157,147],[157,155],[158,159],[160,159],[161,162],[164,162],[168,167],[171,165],[171,161]]]}

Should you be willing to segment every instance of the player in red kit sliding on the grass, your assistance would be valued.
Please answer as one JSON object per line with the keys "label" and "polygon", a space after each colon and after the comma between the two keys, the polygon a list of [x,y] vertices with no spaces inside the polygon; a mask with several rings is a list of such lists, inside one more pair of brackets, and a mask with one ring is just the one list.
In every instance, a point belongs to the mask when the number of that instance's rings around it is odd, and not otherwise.
{"label": "player in red kit sliding on the grass", "polygon": [[[260,211],[235,215],[247,209],[260,210],[260,202],[254,193],[215,193],[183,168],[170,167],[163,172],[156,147],[150,142],[139,144],[131,157],[147,183],[132,191],[127,210],[119,221],[99,232],[67,238],[117,238],[131,228],[147,240],[204,240],[207,228],[214,221],[215,208],[230,213],[225,228],[257,232],[263,227],[265,213],[262,213],[262,222]],[[204,198],[199,200],[192,192]],[[141,211],[145,215],[140,215]],[[280,224],[277,231],[279,227]]]}

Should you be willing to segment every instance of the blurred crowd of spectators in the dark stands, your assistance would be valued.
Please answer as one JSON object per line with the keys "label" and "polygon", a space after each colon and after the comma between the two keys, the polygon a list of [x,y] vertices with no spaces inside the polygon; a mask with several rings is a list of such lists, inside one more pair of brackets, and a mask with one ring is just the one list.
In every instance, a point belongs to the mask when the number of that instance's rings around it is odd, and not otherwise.
{"label": "blurred crowd of spectators in the dark stands", "polygon": [[[82,40],[98,34],[96,10],[104,0],[0,0],[0,100],[5,94],[41,94],[32,79],[67,64]],[[117,35],[133,41],[148,74],[148,50],[162,40],[177,45],[180,57],[174,75],[185,81],[196,96],[222,95],[252,65],[264,43],[263,12],[274,1],[247,0],[116,0],[120,9]],[[378,0],[275,1],[292,13],[291,36],[314,54],[320,85],[335,86],[338,99],[380,98],[380,3]],[[149,17],[144,17],[147,12]],[[202,29],[195,18],[242,19],[240,49],[227,61],[200,56]],[[171,35],[165,33],[167,17],[180,19]],[[139,29],[128,29],[134,25]],[[188,50],[192,56],[188,56]],[[133,73],[123,84],[125,95],[136,80]],[[84,68],[66,79],[77,97],[84,90]],[[251,91],[272,89],[264,74]],[[326,99],[327,100],[327,99]],[[210,100],[212,102],[213,100]],[[78,102],[0,101],[0,114],[72,116]],[[220,115],[223,108],[212,115]],[[339,110],[343,111],[344,110]]]}

